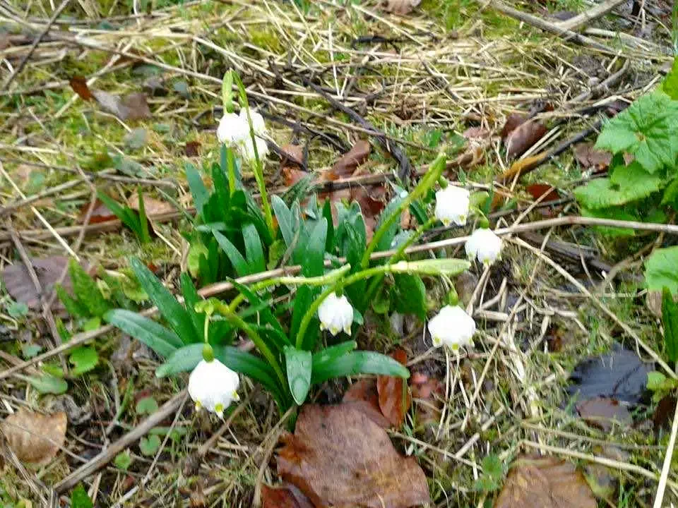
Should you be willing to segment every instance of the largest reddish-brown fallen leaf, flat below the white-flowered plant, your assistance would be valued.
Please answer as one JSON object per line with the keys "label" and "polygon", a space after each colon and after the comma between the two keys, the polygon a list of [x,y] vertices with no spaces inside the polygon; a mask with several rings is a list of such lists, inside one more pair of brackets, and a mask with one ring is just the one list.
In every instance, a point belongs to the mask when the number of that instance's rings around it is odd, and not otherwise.
{"label": "largest reddish-brown fallen leaf, flat below the white-flowered plant", "polygon": [[408,508],[431,502],[424,471],[350,405],[302,407],[283,436],[278,473],[319,507]]}

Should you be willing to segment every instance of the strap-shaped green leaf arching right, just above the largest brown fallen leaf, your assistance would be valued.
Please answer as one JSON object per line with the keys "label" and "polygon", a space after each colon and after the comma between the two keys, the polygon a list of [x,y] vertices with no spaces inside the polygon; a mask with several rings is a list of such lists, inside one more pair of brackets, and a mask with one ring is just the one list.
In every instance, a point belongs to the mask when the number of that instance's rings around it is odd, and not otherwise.
{"label": "strap-shaped green leaf arching right, just above the largest brown fallen leaf", "polygon": [[374,351],[352,351],[328,362],[313,365],[311,385],[317,385],[332,377],[356,374],[378,374],[410,377],[410,371],[390,356]]}

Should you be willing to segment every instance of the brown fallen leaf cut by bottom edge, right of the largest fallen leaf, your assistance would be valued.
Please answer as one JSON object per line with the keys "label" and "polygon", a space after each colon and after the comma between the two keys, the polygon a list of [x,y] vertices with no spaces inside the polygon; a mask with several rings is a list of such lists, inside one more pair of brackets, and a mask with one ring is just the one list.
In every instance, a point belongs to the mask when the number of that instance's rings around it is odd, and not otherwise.
{"label": "brown fallen leaf cut by bottom edge, right of the largest fallen leaf", "polygon": [[583,474],[555,457],[520,456],[511,464],[494,508],[596,508]]}

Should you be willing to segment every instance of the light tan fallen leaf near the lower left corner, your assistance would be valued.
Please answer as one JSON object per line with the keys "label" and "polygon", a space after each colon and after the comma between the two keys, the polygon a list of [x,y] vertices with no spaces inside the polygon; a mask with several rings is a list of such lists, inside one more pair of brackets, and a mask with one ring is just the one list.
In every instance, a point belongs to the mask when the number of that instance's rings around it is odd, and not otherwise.
{"label": "light tan fallen leaf near the lower left corner", "polygon": [[20,461],[42,466],[64,446],[66,413],[43,415],[22,407],[4,419],[0,431]]}

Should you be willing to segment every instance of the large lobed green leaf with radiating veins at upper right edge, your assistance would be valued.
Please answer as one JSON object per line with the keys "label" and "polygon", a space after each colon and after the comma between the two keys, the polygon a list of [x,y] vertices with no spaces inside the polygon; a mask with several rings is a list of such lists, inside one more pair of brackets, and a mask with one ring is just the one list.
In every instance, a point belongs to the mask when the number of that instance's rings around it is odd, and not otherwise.
{"label": "large lobed green leaf with radiating veins at upper right edge", "polygon": [[655,173],[673,167],[678,157],[678,102],[662,92],[636,99],[610,120],[595,143],[600,150],[629,152],[636,162]]}

